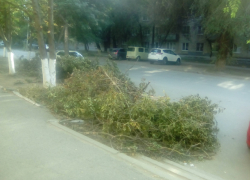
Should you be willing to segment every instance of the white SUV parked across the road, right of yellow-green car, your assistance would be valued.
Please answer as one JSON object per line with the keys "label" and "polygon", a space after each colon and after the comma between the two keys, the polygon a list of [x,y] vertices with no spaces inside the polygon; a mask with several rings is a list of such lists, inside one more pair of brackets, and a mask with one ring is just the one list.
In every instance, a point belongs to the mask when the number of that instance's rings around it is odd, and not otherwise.
{"label": "white SUV parked across the road, right of yellow-green car", "polygon": [[148,60],[150,64],[157,61],[161,61],[164,64],[167,64],[168,62],[175,62],[178,65],[181,64],[181,57],[169,49],[152,49],[148,55]]}

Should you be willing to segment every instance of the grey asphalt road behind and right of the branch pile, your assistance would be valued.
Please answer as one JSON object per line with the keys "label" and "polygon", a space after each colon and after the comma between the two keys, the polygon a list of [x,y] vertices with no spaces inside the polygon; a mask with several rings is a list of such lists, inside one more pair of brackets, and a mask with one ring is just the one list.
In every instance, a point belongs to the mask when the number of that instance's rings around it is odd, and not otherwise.
{"label": "grey asphalt road behind and right of the branch pile", "polygon": [[[102,61],[102,60],[101,60]],[[192,162],[200,170],[228,180],[250,178],[250,150],[246,146],[246,133],[250,120],[249,75],[242,78],[221,77],[182,71],[175,65],[150,65],[148,62],[117,61],[121,71],[139,84],[150,81],[156,96],[169,96],[173,101],[199,94],[225,108],[216,115],[220,129],[221,148],[213,160]],[[185,67],[186,68],[186,67]],[[239,70],[240,71],[240,70]]]}

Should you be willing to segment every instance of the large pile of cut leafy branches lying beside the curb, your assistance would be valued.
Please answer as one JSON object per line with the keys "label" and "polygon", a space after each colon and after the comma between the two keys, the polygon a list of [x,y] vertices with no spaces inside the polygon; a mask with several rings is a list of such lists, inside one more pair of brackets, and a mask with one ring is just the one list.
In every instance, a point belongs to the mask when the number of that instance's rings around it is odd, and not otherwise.
{"label": "large pile of cut leafy branches lying beside the curb", "polygon": [[90,66],[84,61],[63,85],[21,93],[56,113],[86,120],[94,130],[85,133],[103,135],[123,152],[171,159],[203,159],[216,153],[215,114],[221,109],[208,98],[155,99],[153,91],[145,92],[148,83],[135,86],[113,62]]}

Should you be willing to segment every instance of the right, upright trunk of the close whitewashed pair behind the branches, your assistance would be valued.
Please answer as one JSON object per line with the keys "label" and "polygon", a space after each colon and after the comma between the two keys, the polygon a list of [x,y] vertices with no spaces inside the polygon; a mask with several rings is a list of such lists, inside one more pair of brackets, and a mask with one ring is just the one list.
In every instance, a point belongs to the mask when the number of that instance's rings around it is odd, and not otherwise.
{"label": "right, upright trunk of the close whitewashed pair behind the branches", "polygon": [[48,8],[48,22],[49,22],[49,72],[51,86],[56,86],[56,53],[55,53],[55,40],[54,40],[54,15],[53,15],[53,0],[49,0]]}

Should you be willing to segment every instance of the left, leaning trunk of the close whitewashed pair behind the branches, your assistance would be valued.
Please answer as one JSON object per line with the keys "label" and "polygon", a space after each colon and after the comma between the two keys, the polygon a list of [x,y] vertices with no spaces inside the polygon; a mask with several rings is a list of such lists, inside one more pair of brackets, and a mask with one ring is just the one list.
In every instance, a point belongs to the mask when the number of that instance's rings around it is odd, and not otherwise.
{"label": "left, leaning trunk of the close whitewashed pair behind the branches", "polygon": [[37,40],[39,45],[40,58],[42,61],[43,87],[48,88],[51,85],[49,62],[43,38],[43,27],[42,27],[41,13],[38,0],[32,0],[32,6],[34,11],[35,28],[37,31]]}

